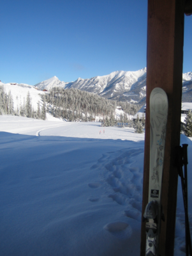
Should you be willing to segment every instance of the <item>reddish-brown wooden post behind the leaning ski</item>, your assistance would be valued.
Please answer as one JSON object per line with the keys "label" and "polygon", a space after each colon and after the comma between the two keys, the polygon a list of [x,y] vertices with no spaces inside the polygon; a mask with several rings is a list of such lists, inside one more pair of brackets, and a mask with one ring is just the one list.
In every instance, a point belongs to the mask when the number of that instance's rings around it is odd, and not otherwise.
{"label": "reddish-brown wooden post behind the leaning ski", "polygon": [[[180,144],[184,1],[148,0],[147,26],[147,106],[142,214],[148,202],[149,189],[149,97],[152,89],[160,87],[168,95],[168,122],[162,184],[165,222],[161,221],[159,255],[172,256],[174,255],[178,177],[177,169],[174,168],[174,149]],[[145,239],[145,223],[142,223],[141,256],[145,255]]]}

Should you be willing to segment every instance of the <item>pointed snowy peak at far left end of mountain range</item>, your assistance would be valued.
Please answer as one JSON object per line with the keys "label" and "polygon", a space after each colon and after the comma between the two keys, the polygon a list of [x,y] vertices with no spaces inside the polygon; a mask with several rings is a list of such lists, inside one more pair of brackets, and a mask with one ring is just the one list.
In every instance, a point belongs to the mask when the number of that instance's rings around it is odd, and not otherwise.
{"label": "pointed snowy peak at far left end of mountain range", "polygon": [[65,87],[66,84],[63,81],[60,81],[56,76],[51,77],[50,79],[47,79],[41,83],[35,84],[34,86],[38,87],[40,90],[50,90],[54,87]]}

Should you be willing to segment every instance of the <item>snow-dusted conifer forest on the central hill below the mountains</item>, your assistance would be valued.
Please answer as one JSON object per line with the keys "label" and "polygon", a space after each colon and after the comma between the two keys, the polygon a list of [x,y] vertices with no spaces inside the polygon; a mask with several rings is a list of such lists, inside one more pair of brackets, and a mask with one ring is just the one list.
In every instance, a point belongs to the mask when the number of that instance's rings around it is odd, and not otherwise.
{"label": "snow-dusted conifer forest on the central hill below the mountains", "polygon": [[45,95],[48,111],[56,118],[64,118],[68,121],[91,121],[96,118],[101,121],[113,116],[115,109],[121,106],[124,111],[122,119],[128,119],[127,115],[135,115],[140,106],[108,100],[97,94],[78,90],[76,88],[63,89],[54,87]]}

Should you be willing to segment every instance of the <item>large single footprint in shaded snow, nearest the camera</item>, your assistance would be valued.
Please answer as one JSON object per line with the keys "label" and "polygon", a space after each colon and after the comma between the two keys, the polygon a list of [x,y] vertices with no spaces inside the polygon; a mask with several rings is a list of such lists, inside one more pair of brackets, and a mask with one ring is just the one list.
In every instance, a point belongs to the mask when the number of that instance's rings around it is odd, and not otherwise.
{"label": "large single footprint in shaded snow, nearest the camera", "polygon": [[128,239],[132,234],[132,228],[124,221],[111,222],[103,228],[119,239]]}

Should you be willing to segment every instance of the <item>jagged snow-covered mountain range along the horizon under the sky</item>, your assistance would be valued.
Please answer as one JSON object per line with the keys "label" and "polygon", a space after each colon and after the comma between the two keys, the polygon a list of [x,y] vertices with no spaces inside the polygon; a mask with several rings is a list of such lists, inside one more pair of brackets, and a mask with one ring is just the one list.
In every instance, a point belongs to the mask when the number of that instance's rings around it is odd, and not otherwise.
{"label": "jagged snow-covered mountain range along the horizon under the sky", "polygon": [[[137,71],[115,71],[106,76],[96,76],[90,79],[78,78],[71,83],[61,82],[54,76],[36,84],[40,90],[50,90],[54,86],[62,88],[77,88],[96,93],[106,99],[128,102],[145,102],[147,68]],[[183,74],[182,100],[192,102],[192,72]]]}

